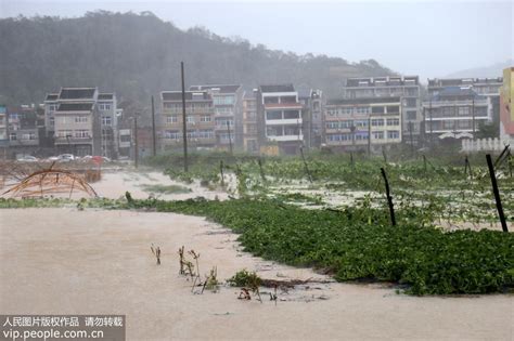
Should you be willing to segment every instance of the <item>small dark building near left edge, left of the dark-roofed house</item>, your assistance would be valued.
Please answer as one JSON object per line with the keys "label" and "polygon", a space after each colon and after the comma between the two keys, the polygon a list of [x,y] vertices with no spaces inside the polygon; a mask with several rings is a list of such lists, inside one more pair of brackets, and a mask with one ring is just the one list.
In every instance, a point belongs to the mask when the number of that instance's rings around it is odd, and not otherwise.
{"label": "small dark building near left edge, left of the dark-roofed house", "polygon": [[37,109],[35,105],[9,108],[9,148],[11,154],[31,155],[39,148]]}

